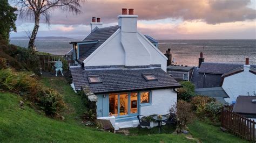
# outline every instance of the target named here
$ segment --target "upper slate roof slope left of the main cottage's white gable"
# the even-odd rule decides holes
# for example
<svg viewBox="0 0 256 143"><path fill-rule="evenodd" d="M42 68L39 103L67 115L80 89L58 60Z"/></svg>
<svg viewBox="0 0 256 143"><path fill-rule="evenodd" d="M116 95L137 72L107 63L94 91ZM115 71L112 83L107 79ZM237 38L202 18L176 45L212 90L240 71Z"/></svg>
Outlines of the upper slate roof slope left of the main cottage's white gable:
<svg viewBox="0 0 256 143"><path fill-rule="evenodd" d="M79 55L79 62L83 62L89 55L91 55L100 45L102 45L111 35L118 30L119 26L110 26L104 28L96 27L83 41L99 40L99 42L93 45L86 53Z"/></svg>

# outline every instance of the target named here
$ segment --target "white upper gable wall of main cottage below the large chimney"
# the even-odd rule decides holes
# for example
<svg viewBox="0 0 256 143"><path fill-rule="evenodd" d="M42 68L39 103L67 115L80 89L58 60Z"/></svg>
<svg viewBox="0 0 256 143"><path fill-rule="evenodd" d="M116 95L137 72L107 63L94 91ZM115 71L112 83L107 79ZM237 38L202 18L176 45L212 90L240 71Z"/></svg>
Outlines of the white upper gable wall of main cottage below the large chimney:
<svg viewBox="0 0 256 143"><path fill-rule="evenodd" d="M84 60L85 66L161 65L166 71L166 57L138 32L116 31L95 52Z"/></svg>

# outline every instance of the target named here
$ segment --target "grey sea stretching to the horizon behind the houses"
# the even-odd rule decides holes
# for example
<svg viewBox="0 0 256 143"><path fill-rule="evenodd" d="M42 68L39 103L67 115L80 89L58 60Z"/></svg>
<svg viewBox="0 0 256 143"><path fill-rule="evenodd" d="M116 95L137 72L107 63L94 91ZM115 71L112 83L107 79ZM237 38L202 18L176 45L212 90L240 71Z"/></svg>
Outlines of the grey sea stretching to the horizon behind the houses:
<svg viewBox="0 0 256 143"><path fill-rule="evenodd" d="M37 51L54 55L63 55L70 51L69 38L50 38L36 40ZM11 39L11 44L21 47L28 46L27 39ZM245 63L250 59L251 65L256 65L256 40L158 40L158 48L165 53L171 49L172 58L177 65L198 66L200 52L203 52L205 62Z"/></svg>

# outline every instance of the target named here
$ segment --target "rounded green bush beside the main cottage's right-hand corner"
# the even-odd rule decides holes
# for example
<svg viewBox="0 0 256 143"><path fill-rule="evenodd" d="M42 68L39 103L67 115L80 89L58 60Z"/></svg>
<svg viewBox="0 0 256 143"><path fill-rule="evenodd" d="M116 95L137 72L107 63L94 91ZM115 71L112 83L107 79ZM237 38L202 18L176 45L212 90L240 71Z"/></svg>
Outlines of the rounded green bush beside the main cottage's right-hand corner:
<svg viewBox="0 0 256 143"><path fill-rule="evenodd" d="M191 97L194 96L194 84L189 81L183 81L180 84L183 87L178 88L178 99L190 101Z"/></svg>

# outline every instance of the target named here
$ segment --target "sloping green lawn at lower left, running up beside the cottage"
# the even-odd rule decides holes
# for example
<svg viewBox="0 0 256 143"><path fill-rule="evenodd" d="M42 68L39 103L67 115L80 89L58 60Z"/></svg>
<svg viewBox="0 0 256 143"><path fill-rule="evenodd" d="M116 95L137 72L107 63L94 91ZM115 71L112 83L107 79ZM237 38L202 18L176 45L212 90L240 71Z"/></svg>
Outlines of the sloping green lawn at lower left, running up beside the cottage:
<svg viewBox="0 0 256 143"><path fill-rule="evenodd" d="M43 78L42 83L63 94L68 109L65 121L45 117L24 105L19 108L21 97L0 92L0 142L192 142L185 135L150 134L124 136L99 131L80 123L85 110L80 97L62 78ZM193 141L194 142L194 141Z"/></svg>

